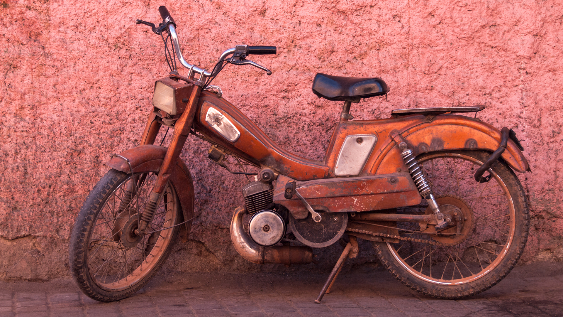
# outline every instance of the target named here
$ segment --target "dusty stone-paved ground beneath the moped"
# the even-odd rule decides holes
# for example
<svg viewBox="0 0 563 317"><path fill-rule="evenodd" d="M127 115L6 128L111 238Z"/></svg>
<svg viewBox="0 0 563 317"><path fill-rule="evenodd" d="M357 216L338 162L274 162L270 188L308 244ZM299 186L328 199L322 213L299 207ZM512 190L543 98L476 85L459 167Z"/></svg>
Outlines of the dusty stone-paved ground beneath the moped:
<svg viewBox="0 0 563 317"><path fill-rule="evenodd" d="M70 279L0 282L0 316L563 316L563 263L517 266L501 283L464 300L414 292L383 270L338 277L314 302L325 274L159 272L125 300L100 303Z"/></svg>

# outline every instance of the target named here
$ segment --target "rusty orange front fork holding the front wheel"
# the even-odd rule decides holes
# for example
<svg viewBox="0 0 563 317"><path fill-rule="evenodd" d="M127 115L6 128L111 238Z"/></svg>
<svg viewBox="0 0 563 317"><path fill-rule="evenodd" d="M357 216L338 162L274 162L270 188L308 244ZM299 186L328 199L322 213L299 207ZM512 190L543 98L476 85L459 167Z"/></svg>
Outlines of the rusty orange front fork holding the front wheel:
<svg viewBox="0 0 563 317"><path fill-rule="evenodd" d="M171 176L173 170L173 164L176 163L182 148L184 148L184 143L186 143L187 136L190 134L191 125L194 122L195 111L198 105L199 95L202 92L202 87L194 85L191 90L190 98L186 104L186 109L184 113L178 118L174 124L174 133L172 134L172 140L168 146L168 151L164 156L162 165L158 173L158 178L154 184L153 191L149 195L149 199L145 204L145 210L141 215L141 219L138 224L138 228L135 230L136 235L143 235L148 224L153 220L154 213L157 211L158 202L160 201L160 196L166 188L168 179ZM145 132L143 134L141 145L154 144L157 139L158 131L160 130L161 124L157 121L157 116L153 112L149 115L149 122L145 127ZM131 199L135 195L135 179L131 183L131 188L127 188L128 192L131 192ZM131 190L131 191L129 191ZM129 199L129 201L131 201Z"/></svg>

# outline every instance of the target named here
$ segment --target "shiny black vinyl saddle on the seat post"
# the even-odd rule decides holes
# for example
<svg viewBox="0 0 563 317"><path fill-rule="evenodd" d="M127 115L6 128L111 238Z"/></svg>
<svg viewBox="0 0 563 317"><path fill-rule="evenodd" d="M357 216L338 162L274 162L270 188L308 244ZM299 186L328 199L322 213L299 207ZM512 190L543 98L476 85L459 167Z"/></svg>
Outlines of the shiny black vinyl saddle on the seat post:
<svg viewBox="0 0 563 317"><path fill-rule="evenodd" d="M379 77L340 77L321 73L316 74L312 89L319 98L353 103L360 102L360 98L381 96L389 91L385 81Z"/></svg>

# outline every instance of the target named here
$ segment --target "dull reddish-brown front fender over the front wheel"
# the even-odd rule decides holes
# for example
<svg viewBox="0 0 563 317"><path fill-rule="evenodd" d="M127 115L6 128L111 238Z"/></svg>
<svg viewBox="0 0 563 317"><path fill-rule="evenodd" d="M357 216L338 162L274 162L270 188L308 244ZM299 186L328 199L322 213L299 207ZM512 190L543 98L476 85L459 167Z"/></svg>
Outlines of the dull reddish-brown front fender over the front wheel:
<svg viewBox="0 0 563 317"><path fill-rule="evenodd" d="M166 151L167 148L165 147L150 144L128 149L127 151L119 153L119 155L129 160L131 167L133 168L133 173L146 173L149 171L158 171L160 169L160 165L162 165ZM111 160L106 162L106 165L110 168L123 171L124 173L131 173L131 168L129 168L127 161L119 156L111 158ZM178 199L180 199L180 206L184 219L191 219L194 217L194 182L191 178L190 170L187 169L186 164L184 164L182 160L178 159L176 161L176 165L171 171L170 181L178 193ZM191 221L186 222L186 230L188 234L190 232L190 228Z"/></svg>

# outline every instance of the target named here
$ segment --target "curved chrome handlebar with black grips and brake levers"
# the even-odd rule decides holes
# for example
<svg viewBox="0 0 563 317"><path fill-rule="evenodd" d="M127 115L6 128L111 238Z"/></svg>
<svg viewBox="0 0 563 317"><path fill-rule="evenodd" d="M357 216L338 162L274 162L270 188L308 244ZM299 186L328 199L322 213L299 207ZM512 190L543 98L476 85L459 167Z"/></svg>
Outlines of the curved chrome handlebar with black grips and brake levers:
<svg viewBox="0 0 563 317"><path fill-rule="evenodd" d="M199 68L195 65L192 65L190 63L187 63L187 61L184 59L184 55L182 55L182 50L180 49L180 41L178 40L178 34L176 33L176 22L174 21L174 19L172 19L172 16L170 15L170 12L168 11L168 9L165 6L160 6L158 8L158 12L160 12L160 16L162 17L162 24L160 24L160 28L158 28L159 30L161 30L160 32L162 33L162 27L164 27L164 29L168 29L170 37L172 39L172 44L174 46L174 51L176 52L176 56L178 57L178 60L180 61L180 64L182 64L182 66L184 66L187 69L190 69L190 73L193 71L195 73L198 73L200 75L199 79L203 80L204 77L211 77L211 76L215 76L217 75L218 72L221 71L221 67L217 67L215 69L215 72L211 73L209 71L206 71L205 69ZM151 25L152 23L146 23L145 21L141 21L141 20L137 20L136 21L137 24L146 24L146 25ZM154 24L153 25L153 32L155 32L155 28L154 28ZM157 32L155 32L157 33ZM160 34L160 33L157 33ZM223 63L225 63L225 60L227 59L227 56L233 54L235 52L235 48L233 47L232 49L228 49L226 51L223 52L223 54L221 54L221 56L219 57L219 61L221 61L221 65ZM275 46L248 46L248 54L249 55L270 55L270 54L276 54L277 53L277 47ZM252 62L252 61L249 61ZM245 64L256 64L254 62L252 63L245 63ZM260 66L260 65L254 65L256 67ZM258 68L262 68L262 67L258 67ZM263 68L265 69L265 68ZM267 71L268 74L271 74L270 71ZM188 76L189 77L189 76Z"/></svg>

